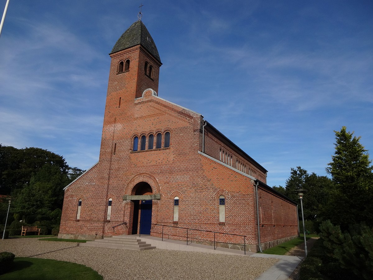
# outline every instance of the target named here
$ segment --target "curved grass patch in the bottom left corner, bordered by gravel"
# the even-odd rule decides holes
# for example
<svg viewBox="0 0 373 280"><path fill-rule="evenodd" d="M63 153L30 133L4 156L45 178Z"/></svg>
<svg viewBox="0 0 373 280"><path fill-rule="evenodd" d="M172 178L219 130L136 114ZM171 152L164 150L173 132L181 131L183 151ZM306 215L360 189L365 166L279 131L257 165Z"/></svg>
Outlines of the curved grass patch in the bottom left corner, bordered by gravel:
<svg viewBox="0 0 373 280"><path fill-rule="evenodd" d="M15 258L13 268L1 280L102 280L90 267L54 259Z"/></svg>

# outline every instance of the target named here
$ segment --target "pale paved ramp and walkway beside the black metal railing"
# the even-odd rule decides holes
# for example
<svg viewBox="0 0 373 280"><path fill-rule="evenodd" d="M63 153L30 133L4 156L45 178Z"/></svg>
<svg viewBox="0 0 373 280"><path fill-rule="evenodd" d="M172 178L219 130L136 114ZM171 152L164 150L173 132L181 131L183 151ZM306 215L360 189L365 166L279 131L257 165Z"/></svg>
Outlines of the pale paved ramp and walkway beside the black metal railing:
<svg viewBox="0 0 373 280"><path fill-rule="evenodd" d="M139 236L137 234L137 236ZM191 243L186 245L185 241L179 240L164 240L155 236L141 235L141 240L151 243L152 246L156 246L158 249L168 249L176 251L193 251L203 253L216 253L216 254L227 254L227 255L245 255L244 251L228 249L228 248L216 248L213 246L201 245ZM258 257L258 258L275 258L280 259L276 264L272 265L267 269L261 276L257 277L256 280L287 280L295 270L297 265L303 259L300 256L283 256L283 255L269 255L262 253L246 252L246 256Z"/></svg>

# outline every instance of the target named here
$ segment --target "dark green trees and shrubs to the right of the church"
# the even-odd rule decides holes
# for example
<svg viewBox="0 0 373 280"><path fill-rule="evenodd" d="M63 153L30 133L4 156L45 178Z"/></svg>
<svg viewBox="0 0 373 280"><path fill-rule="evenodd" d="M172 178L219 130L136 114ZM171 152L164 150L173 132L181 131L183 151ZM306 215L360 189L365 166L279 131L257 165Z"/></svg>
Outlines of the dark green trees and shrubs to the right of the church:
<svg viewBox="0 0 373 280"><path fill-rule="evenodd" d="M273 187L295 201L295 190L307 190L304 218L320 239L301 265L300 280L372 279L373 166L353 134L346 127L335 131L335 152L326 167L331 179L298 166L291 168L285 188Z"/></svg>

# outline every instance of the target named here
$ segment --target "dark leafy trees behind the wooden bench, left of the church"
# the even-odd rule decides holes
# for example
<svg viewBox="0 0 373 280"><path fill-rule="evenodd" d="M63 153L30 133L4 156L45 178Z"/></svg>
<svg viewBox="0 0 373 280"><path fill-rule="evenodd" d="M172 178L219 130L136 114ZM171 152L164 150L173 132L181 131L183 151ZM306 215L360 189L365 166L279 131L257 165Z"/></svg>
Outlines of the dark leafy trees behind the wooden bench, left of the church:
<svg viewBox="0 0 373 280"><path fill-rule="evenodd" d="M0 195L12 197L8 224L12 220L15 227L37 222L47 231L59 225L63 188L83 172L69 167L62 156L48 150L0 144ZM7 200L0 205L0 224L5 224Z"/></svg>

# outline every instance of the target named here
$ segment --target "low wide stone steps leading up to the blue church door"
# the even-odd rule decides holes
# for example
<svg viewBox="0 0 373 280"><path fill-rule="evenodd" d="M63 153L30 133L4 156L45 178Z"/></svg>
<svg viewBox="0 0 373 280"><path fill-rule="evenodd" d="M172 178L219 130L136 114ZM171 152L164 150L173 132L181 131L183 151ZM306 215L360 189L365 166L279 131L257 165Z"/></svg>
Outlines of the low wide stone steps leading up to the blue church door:
<svg viewBox="0 0 373 280"><path fill-rule="evenodd" d="M87 241L86 243L80 243L79 246L132 251L143 251L156 248L155 246L151 246L151 244L147 244L145 241L141 241L137 236L131 235L105 237L104 239L96 239L93 241Z"/></svg>

